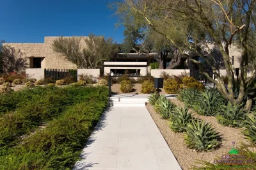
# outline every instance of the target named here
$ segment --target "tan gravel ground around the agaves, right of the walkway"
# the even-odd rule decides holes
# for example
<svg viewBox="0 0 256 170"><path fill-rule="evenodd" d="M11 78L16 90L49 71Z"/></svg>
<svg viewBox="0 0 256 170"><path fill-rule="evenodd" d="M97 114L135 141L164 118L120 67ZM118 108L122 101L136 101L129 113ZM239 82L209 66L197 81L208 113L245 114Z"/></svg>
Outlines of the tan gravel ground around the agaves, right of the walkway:
<svg viewBox="0 0 256 170"><path fill-rule="evenodd" d="M176 105L184 107L184 104L178 99L170 100L172 100L172 102ZM202 152L191 150L185 145L183 134L173 132L169 127L169 121L163 120L161 116L154 111L154 107L151 104L147 104L146 107L154 119L157 127L163 134L163 137L168 143L168 146L172 150L174 156L177 158L177 161L182 169L191 169L191 166L196 165L196 160L206 160L213 163L214 158L221 157L221 155L228 153L228 151L232 148L232 141L236 141L236 146L241 142L249 143L247 139L244 139L244 135L241 134L241 128L223 127L213 116L200 116L190 110L195 118L200 118L211 123L211 125L223 135L221 147L217 150Z"/></svg>

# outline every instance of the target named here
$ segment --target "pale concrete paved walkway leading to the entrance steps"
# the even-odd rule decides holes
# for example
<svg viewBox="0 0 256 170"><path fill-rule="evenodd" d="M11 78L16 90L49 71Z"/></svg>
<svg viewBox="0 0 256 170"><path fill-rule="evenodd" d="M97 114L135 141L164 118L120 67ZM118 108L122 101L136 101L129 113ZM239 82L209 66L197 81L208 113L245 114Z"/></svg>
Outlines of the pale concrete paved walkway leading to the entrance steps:
<svg viewBox="0 0 256 170"><path fill-rule="evenodd" d="M74 169L181 169L146 107L109 107Z"/></svg>

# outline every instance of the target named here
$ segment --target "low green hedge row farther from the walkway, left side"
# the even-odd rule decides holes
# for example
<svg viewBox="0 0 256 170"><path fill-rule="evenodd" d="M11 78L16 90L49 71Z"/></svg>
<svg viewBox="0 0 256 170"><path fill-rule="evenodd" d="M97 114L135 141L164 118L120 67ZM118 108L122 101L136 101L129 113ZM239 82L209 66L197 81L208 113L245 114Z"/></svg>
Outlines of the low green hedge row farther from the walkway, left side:
<svg viewBox="0 0 256 170"><path fill-rule="evenodd" d="M37 89L36 89L37 90ZM43 88L42 91L45 89ZM48 90L48 91L47 91ZM29 134L40 123L57 118L71 105L88 101L99 93L108 94L106 88L51 88L44 95L19 104L15 112L0 119L0 154L10 146L22 141L22 135Z"/></svg>

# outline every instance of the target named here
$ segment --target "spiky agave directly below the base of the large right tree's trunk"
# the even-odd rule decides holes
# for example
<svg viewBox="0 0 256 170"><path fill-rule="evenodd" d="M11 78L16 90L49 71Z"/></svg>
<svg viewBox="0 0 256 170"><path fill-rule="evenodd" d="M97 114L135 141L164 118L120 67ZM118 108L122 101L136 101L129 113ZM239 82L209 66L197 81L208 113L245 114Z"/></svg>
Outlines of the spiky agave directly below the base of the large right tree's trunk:
<svg viewBox="0 0 256 170"><path fill-rule="evenodd" d="M245 118L245 111L243 105L234 104L228 102L227 105L221 105L217 115L217 120L221 125L230 127L239 127L241 121Z"/></svg>

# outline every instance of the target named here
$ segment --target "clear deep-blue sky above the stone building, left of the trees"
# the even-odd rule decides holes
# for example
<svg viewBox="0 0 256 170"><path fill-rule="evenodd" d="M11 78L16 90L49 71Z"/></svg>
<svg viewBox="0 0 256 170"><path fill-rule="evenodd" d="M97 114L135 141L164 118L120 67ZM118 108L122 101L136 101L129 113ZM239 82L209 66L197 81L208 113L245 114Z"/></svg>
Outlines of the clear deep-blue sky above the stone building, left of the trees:
<svg viewBox="0 0 256 170"><path fill-rule="evenodd" d="M44 36L112 37L122 43L109 0L0 0L0 40L44 42Z"/></svg>

